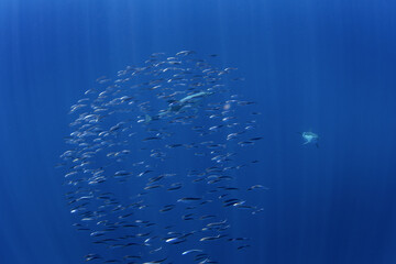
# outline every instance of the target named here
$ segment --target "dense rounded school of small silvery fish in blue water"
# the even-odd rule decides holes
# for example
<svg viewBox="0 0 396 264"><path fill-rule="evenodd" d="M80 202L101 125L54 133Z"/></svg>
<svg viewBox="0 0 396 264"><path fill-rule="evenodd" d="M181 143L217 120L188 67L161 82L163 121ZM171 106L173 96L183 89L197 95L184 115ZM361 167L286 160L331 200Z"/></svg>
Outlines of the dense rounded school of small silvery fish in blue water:
<svg viewBox="0 0 396 264"><path fill-rule="evenodd" d="M263 210L246 197L267 188L244 180L258 161L242 151L262 140L261 113L234 94L243 89L237 68L218 59L152 54L98 78L72 106L59 167L74 226L97 249L86 262L219 263L217 246L253 246L235 235L243 229L232 230L232 216Z"/></svg>

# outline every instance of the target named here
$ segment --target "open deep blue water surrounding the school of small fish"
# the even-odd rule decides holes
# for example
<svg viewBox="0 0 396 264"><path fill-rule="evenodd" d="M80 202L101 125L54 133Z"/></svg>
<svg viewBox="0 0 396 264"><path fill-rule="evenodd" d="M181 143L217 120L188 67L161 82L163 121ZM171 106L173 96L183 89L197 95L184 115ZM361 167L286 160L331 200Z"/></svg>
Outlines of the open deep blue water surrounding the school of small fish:
<svg viewBox="0 0 396 264"><path fill-rule="evenodd" d="M0 263L84 263L54 168L69 107L99 76L182 50L238 67L263 113L243 177L270 190L228 263L396 263L395 15L389 0L0 1ZM301 145L309 130L319 148Z"/></svg>

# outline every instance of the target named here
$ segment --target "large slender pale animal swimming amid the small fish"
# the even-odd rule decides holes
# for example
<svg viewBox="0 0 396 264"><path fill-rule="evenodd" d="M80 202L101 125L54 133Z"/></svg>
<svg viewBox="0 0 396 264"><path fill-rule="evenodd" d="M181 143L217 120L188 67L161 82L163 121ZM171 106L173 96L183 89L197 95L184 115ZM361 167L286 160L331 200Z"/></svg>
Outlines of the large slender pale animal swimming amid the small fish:
<svg viewBox="0 0 396 264"><path fill-rule="evenodd" d="M212 95L213 92L210 91L199 91L189 96L182 98L180 100L172 100L169 101L167 110L161 110L158 114L150 117L148 114L145 116L145 121L150 122L152 120L158 120L165 118L173 113L178 113L184 108L191 107L193 105L199 102L202 98Z"/></svg>

